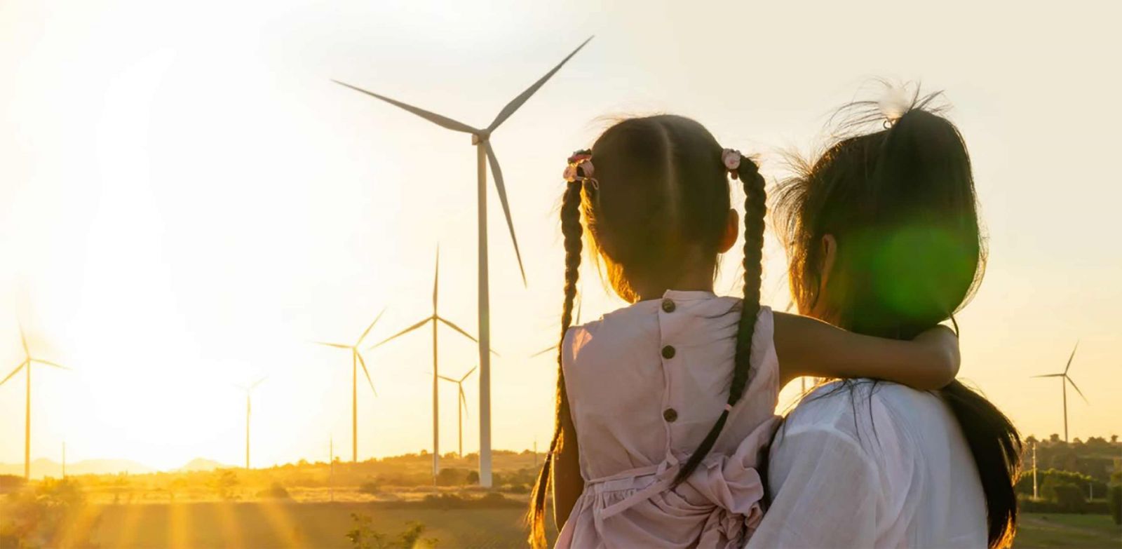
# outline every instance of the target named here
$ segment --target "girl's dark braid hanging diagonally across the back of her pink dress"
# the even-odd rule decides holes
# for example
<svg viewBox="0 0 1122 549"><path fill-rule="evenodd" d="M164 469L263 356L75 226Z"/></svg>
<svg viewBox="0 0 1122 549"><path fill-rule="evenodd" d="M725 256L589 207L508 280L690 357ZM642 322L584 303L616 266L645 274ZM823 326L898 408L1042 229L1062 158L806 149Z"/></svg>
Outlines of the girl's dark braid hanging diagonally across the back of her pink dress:
<svg viewBox="0 0 1122 549"><path fill-rule="evenodd" d="M744 182L744 303L736 329L736 358L733 366L733 382L728 390L728 405L706 434L705 440L690 455L686 465L678 470L674 486L686 481L717 443L717 437L728 421L729 410L744 395L744 387L748 384L748 370L752 368L752 335L756 330L756 315L760 313L760 281L763 276L761 263L767 195L760 168L747 157L741 161L735 175Z"/></svg>

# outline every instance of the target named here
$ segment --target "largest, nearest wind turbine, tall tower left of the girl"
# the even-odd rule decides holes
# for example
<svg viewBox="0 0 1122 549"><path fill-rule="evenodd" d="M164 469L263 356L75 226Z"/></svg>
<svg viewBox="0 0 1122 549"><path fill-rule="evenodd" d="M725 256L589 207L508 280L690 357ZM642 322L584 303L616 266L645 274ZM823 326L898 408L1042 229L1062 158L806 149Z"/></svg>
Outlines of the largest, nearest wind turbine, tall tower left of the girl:
<svg viewBox="0 0 1122 549"><path fill-rule="evenodd" d="M451 118L430 112L424 109L403 103L395 99L379 95L377 93L353 86L351 84L332 80L332 82L350 88L355 91L366 93L373 98L385 101L389 104L407 110L430 122L453 131L462 131L471 135L471 144L476 146L476 174L478 204L477 226L479 234L479 484L481 486L491 485L491 452L490 452L490 302L489 283L487 274L487 164L490 164L495 176L495 190L498 192L499 203L503 205L503 214L506 217L506 227L511 232L511 241L514 244L514 256L518 259L518 272L522 274L522 283L526 283L526 271L522 267L522 254L518 251L518 239L514 236L514 222L511 221L511 207L506 201L506 185L503 183L503 171L499 168L498 158L490 145L491 132L499 125L506 121L514 111L518 110L550 77L553 76L580 48L588 44L589 37L577 49L573 49L565 58L561 60L550 72L531 84L525 91L514 98L503 110L499 111L495 120L486 128L473 128Z"/></svg>

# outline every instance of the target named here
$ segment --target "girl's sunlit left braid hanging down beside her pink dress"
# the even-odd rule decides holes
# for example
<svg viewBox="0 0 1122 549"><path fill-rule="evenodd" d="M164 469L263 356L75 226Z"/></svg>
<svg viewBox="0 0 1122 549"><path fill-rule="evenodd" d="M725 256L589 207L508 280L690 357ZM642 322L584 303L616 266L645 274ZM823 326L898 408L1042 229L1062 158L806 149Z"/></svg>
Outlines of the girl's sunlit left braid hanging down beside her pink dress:
<svg viewBox="0 0 1122 549"><path fill-rule="evenodd" d="M530 545L534 549L545 547L545 498L550 487L553 468L553 457L564 446L561 419L569 415L569 396L564 387L564 369L561 366L564 356L564 336L572 324L573 302L577 299L577 280L580 276L580 253L582 249L580 225L580 192L582 180L571 181L565 186L561 199L561 234L564 236L564 305L561 309L561 344L558 346L558 404L553 421L553 440L549 454L542 461L542 470L537 474L537 483L530 496L530 512L526 522L530 523Z"/></svg>

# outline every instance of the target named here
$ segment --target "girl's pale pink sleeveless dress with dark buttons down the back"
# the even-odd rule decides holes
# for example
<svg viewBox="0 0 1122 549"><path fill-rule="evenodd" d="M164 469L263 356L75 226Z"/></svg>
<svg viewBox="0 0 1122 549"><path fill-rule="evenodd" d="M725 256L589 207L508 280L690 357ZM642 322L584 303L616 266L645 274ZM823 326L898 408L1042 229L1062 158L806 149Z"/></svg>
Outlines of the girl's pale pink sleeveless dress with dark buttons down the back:
<svg viewBox="0 0 1122 549"><path fill-rule="evenodd" d="M712 451L670 485L724 411L741 300L668 291L574 327L562 355L585 491L559 548L739 548L763 515L779 418L772 312L762 308L752 369Z"/></svg>

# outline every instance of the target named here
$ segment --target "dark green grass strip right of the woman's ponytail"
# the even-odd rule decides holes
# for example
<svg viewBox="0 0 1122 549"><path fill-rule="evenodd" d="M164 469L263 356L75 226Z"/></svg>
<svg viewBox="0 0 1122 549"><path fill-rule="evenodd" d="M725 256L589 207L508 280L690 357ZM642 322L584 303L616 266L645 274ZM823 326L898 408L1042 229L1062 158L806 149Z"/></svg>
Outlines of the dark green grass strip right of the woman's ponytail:
<svg viewBox="0 0 1122 549"><path fill-rule="evenodd" d="M1105 514L1021 514L1014 549L1122 548L1122 528Z"/></svg>

